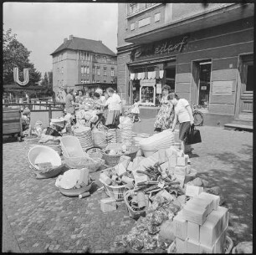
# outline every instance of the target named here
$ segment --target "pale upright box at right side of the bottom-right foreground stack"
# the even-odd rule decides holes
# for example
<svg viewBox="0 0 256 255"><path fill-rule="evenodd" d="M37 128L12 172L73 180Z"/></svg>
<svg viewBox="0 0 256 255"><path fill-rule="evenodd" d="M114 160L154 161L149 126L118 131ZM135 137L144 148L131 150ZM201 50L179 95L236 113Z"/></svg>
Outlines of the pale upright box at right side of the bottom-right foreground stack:
<svg viewBox="0 0 256 255"><path fill-rule="evenodd" d="M202 245L212 247L222 232L222 219L212 211L207 220L200 227L200 242Z"/></svg>

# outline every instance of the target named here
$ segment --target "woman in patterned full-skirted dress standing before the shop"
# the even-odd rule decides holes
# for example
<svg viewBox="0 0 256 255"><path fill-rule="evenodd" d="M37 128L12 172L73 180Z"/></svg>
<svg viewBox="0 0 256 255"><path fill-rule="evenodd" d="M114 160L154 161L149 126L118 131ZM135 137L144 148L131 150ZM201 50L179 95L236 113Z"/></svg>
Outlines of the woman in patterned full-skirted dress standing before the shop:
<svg viewBox="0 0 256 255"><path fill-rule="evenodd" d="M162 98L160 100L161 108L156 115L154 123L155 132L161 132L162 130L170 129L173 119L173 105L167 99L167 95L170 93L171 87L164 85L162 87Z"/></svg>

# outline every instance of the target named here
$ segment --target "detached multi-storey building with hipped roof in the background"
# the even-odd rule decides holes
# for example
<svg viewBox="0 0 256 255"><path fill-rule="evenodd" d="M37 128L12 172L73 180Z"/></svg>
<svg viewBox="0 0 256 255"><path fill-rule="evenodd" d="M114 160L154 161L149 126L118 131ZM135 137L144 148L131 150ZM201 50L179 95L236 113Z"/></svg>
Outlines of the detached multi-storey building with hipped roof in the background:
<svg viewBox="0 0 256 255"><path fill-rule="evenodd" d="M53 54L53 89L55 95L64 88L83 89L116 84L116 54L101 41L64 38ZM62 99L63 100L63 96Z"/></svg>

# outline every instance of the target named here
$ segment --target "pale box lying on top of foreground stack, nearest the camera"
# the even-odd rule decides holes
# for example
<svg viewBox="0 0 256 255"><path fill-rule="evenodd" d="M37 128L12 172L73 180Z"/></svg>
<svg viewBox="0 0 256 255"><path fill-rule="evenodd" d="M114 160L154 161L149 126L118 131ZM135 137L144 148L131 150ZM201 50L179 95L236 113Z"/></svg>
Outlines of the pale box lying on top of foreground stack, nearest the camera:
<svg viewBox="0 0 256 255"><path fill-rule="evenodd" d="M194 205L187 205L183 207L182 209L182 216L188 221L188 222L194 222L198 225L202 226L202 224L207 219L207 209L202 207L197 207ZM201 232L200 232L201 236Z"/></svg>

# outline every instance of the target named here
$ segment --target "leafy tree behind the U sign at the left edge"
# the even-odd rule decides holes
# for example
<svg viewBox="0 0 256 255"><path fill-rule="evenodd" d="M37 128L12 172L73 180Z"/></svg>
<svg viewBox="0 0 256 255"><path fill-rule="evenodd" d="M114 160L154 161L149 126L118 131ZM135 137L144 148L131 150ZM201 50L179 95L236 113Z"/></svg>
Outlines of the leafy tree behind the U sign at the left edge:
<svg viewBox="0 0 256 255"><path fill-rule="evenodd" d="M12 29L9 28L6 32L3 31L3 84L13 84L13 68L18 67L19 79L23 80L23 69L29 69L29 82L35 84L41 79L41 74L38 72L32 63L29 61L28 51L23 43L19 43L16 34L12 34Z"/></svg>

